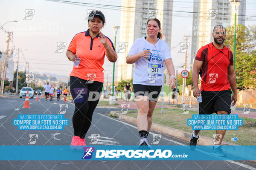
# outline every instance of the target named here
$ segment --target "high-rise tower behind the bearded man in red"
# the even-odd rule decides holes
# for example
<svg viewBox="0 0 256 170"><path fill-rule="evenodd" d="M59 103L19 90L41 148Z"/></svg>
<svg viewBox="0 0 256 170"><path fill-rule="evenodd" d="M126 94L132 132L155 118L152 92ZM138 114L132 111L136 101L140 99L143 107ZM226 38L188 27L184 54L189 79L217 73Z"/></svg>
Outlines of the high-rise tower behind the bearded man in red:
<svg viewBox="0 0 256 170"><path fill-rule="evenodd" d="M236 23L245 25L246 0L237 11ZM191 68L197 51L213 41L212 29L216 25L234 25L234 9L230 0L194 0L191 45Z"/></svg>

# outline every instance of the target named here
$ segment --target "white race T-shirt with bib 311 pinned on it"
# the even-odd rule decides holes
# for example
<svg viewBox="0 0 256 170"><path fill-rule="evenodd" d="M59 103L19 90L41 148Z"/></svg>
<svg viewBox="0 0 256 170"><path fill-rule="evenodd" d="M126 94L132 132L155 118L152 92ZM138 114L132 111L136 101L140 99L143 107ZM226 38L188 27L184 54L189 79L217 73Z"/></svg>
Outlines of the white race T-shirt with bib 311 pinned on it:
<svg viewBox="0 0 256 170"><path fill-rule="evenodd" d="M145 40L145 37L141 37L134 41L127 55L135 55L145 49L151 51L150 57L141 57L135 62L133 84L163 85L164 60L172 58L168 44L158 39L153 45Z"/></svg>

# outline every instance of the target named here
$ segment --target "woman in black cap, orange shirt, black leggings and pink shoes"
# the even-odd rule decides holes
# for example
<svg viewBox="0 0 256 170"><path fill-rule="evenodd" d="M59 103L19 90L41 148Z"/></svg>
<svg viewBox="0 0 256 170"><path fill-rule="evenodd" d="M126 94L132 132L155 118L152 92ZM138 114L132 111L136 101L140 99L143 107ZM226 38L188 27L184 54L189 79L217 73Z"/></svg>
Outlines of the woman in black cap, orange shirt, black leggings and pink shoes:
<svg viewBox="0 0 256 170"><path fill-rule="evenodd" d="M74 62L70 73L70 92L76 106L72 119L74 135L71 149L82 149L81 146L86 145L84 137L103 87L102 65L105 55L111 62L117 59L113 43L100 31L104 24L102 12L91 11L88 17L89 29L76 34L67 50L67 58ZM89 96L93 99L89 99Z"/></svg>

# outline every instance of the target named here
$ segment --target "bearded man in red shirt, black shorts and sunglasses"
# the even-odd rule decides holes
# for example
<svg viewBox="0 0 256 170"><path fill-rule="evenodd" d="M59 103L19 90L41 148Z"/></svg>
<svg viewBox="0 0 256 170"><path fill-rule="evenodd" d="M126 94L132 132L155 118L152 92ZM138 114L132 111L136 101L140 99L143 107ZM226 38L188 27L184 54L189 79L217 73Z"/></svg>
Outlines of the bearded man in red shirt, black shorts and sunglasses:
<svg viewBox="0 0 256 170"><path fill-rule="evenodd" d="M195 57L192 71L192 82L194 84L193 95L202 96L199 103L199 114L230 114L232 106L236 104L236 73L233 65L233 53L224 44L226 29L224 26L213 28L213 42L201 47ZM198 75L201 75L201 88L198 88ZM233 96L230 87L233 90ZM189 141L189 146L195 150L199 131L194 130ZM219 143L213 147L212 152L218 156L225 156L221 150L221 142L226 130L216 130Z"/></svg>

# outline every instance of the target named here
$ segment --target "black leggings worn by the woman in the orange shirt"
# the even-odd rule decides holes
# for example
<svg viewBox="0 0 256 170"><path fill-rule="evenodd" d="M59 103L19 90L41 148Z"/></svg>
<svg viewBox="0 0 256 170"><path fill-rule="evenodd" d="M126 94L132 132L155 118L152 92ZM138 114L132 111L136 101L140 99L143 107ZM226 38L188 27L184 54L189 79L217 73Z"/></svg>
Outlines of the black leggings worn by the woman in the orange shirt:
<svg viewBox="0 0 256 170"><path fill-rule="evenodd" d="M72 119L74 136L85 137L91 125L93 111L99 102L102 87L102 82L87 83L87 80L70 76L70 92L75 103Z"/></svg>

